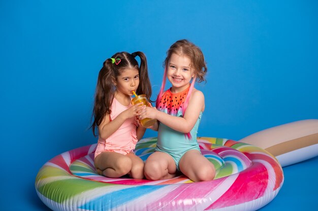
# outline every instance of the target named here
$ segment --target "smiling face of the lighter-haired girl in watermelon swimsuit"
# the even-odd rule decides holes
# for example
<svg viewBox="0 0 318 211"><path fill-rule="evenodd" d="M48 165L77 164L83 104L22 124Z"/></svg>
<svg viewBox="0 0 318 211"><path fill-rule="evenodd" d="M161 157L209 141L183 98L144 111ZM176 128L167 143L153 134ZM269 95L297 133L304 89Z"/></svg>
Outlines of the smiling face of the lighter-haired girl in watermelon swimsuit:
<svg viewBox="0 0 318 211"><path fill-rule="evenodd" d="M173 53L167 67L167 77L172 84L172 92L179 93L188 88L190 80L195 76L190 67L191 60L187 56Z"/></svg>

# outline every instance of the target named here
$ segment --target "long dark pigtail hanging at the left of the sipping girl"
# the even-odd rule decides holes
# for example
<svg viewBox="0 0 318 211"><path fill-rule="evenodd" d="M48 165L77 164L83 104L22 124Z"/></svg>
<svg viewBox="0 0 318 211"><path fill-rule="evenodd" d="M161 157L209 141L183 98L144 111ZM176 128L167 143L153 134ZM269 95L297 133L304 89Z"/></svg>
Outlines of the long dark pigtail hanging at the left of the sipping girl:
<svg viewBox="0 0 318 211"><path fill-rule="evenodd" d="M114 70L112 61L107 59L103 63L103 67L99 72L96 92L94 95L94 107L92 111L92 118L94 118L91 128L93 135L97 136L97 128L101 124L107 113L110 113L112 99L114 98Z"/></svg>

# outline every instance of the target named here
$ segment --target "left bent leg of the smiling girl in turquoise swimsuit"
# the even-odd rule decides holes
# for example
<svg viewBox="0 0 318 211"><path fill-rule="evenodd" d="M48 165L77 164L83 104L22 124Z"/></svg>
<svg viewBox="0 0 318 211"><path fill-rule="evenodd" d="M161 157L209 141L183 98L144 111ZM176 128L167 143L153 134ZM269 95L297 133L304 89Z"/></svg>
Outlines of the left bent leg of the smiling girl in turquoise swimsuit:
<svg viewBox="0 0 318 211"><path fill-rule="evenodd" d="M176 176L176 163L165 152L154 152L146 160L145 176L148 180L171 179Z"/></svg>

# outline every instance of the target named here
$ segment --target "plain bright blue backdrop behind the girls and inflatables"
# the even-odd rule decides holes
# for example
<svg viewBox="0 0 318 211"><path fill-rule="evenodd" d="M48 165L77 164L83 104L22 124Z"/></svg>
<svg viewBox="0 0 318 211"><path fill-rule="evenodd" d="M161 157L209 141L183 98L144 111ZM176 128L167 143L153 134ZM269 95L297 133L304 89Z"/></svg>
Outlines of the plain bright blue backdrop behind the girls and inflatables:
<svg viewBox="0 0 318 211"><path fill-rule="evenodd" d="M0 209L49 210L37 172L97 142L88 130L93 94L115 52L146 54L155 99L170 45L187 38L201 47L199 136L239 140L318 118L317 10L317 1L1 1ZM281 191L261 210L316 209L317 161L284 167Z"/></svg>

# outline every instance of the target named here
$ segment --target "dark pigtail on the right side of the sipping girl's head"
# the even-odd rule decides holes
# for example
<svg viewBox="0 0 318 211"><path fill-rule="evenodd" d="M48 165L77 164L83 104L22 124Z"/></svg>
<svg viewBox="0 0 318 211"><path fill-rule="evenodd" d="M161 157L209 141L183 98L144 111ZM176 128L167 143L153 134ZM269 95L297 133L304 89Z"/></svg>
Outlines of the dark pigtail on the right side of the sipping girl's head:
<svg viewBox="0 0 318 211"><path fill-rule="evenodd" d="M148 76L148 66L147 59L144 53L137 51L132 53L132 56L135 58L139 56L140 58L140 67L139 67L139 86L137 88L138 94L145 94L147 99L150 101L151 97L151 85Z"/></svg>

